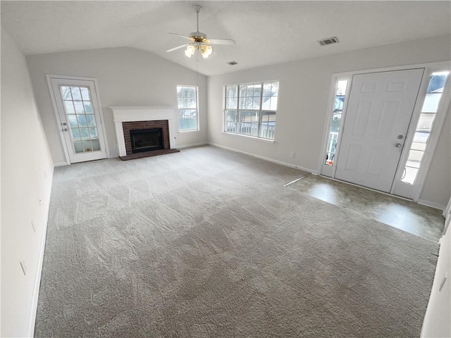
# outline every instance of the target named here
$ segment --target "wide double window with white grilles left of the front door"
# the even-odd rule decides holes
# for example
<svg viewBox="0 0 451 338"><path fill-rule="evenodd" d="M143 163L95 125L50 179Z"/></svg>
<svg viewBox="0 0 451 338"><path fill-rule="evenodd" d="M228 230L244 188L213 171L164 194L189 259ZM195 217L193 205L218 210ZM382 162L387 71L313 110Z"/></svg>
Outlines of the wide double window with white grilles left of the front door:
<svg viewBox="0 0 451 338"><path fill-rule="evenodd" d="M279 82L226 86L224 132L274 139Z"/></svg>

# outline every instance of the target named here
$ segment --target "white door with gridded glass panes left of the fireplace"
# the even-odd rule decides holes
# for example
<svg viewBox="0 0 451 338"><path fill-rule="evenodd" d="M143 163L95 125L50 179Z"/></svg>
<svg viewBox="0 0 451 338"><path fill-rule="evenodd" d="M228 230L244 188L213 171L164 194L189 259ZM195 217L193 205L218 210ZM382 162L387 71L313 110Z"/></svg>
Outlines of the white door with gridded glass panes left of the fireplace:
<svg viewBox="0 0 451 338"><path fill-rule="evenodd" d="M70 163L107 158L94 81L49 79Z"/></svg>

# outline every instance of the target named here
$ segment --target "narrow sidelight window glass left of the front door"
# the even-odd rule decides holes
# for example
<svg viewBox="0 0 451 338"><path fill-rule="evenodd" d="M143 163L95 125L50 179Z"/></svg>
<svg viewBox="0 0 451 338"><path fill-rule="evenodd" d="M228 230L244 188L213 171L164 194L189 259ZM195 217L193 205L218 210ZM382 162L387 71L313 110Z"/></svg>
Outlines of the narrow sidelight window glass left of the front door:
<svg viewBox="0 0 451 338"><path fill-rule="evenodd" d="M345 105L347 80L339 80L337 82L335 92L335 104L333 105L332 122L330 123L329 137L327 140L326 149L326 163L333 165L333 158L335 156L335 148L338 141L338 133L340 132L341 113Z"/></svg>

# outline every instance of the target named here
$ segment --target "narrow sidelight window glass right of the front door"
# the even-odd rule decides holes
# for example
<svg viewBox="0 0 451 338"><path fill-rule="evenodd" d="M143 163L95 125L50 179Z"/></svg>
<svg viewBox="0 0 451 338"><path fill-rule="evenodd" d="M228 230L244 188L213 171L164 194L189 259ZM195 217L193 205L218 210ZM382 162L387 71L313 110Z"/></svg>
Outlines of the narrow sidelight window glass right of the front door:
<svg viewBox="0 0 451 338"><path fill-rule="evenodd" d="M448 72L440 72L431 75L401 182L414 184L416 180L448 74Z"/></svg>

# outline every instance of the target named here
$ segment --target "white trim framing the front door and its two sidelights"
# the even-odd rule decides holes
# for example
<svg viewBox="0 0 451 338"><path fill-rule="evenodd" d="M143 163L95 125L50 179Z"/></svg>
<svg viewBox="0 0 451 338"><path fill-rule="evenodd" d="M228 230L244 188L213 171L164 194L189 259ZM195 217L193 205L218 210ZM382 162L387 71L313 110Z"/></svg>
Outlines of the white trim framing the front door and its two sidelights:
<svg viewBox="0 0 451 338"><path fill-rule="evenodd" d="M414 139L416 124L419 120L419 113L421 111L421 108L424 103L424 97L427 91L428 83L431 78L431 74L438 72L440 70L450 70L450 61L442 61L442 62L435 62L435 63L419 63L414 65L402 65L402 66L394 66L394 67L387 67L387 68L373 68L373 69L367 69L367 70L356 70L352 72L346 72L346 73L334 73L332 77L332 82L330 84L330 94L329 94L329 103L328 103L328 113L326 114L326 121L324 123L324 130L323 130L323 144L321 146L321 154L319 156L318 161L318 173L321 173L321 175L326 174L326 170L324 167L328 166L324 164L324 154L326 154L326 137L328 137L328 132L330 130L330 123L332 120L332 114L333 114L333 104L335 99L335 86L338 80L348 80L348 86L346 89L346 97L349 98L350 90L352 87L352 77L354 75L358 74L366 74L366 73L378 73L378 72L390 72L395 70L409 70L409 69L415 69L415 68L424 68L424 75L423 79L421 80L420 89L419 89L419 99L416 100L414 112L412 113L412 120L409 124L409 131L407 133L405 142L404 142L404 148L402 149L402 154L400 157L400 164L398 165L397 171L395 173L395 179L394 184L392 186L392 189L390 190L390 194L394 194L396 190L397 184L405 184L404 182L401 182L402 172L404 170L404 165L407 161L407 156L410 150L410 146L412 145L412 141ZM421 195L421 191L424 186L424 181L426 180L426 175L428 173L429 167L431 165L431 161L433 158L433 154L435 154L435 147L438 143L438 138L440 137L440 132L443 126L443 121L445 120L447 110L450 106L451 101L451 73L448 75L449 78L447 80L447 83L445 85L445 88L443 89L443 96L440 101L440 106L437 111L437 115L435 116L435 120L433 122L433 126L431 129L431 134L428 139L428 150L424 153L424 157L421 160L421 167L420 170L416 176L414 186L414 192L412 194L412 201L417 202L419 201L419 196ZM420 96L421 95L421 96ZM340 156L340 146L341 146L341 139L342 139L342 130L343 125L345 123L346 118L346 111L347 111L347 101L345 102L345 106L343 106L342 111L342 120L340 124L340 134L338 135L338 146L335 150L335 157L338 158ZM408 146L407 146L408 145ZM336 165L333 165L332 175L330 177L335 178L335 170ZM328 175L327 175L328 176Z"/></svg>

